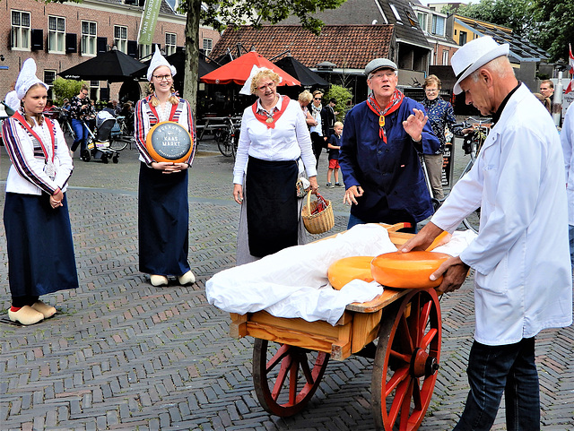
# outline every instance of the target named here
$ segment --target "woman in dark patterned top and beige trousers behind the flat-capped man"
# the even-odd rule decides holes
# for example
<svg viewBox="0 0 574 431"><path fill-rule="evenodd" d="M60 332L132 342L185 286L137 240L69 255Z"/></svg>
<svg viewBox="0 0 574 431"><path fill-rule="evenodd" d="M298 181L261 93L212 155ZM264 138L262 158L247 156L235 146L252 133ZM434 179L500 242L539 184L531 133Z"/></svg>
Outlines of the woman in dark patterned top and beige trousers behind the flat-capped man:
<svg viewBox="0 0 574 431"><path fill-rule="evenodd" d="M452 125L457 123L457 117L452 105L439 98L440 80L436 75L429 75L422 84L425 98L422 100L422 106L427 111L429 123L431 123L432 132L437 135L440 142L439 150L434 154L423 154L424 164L427 167L429 181L431 182L432 195L439 201L444 200L445 194L442 191L442 164L443 153L447 140L445 138L447 126L452 129ZM458 134L460 128L451 130L453 134Z"/></svg>

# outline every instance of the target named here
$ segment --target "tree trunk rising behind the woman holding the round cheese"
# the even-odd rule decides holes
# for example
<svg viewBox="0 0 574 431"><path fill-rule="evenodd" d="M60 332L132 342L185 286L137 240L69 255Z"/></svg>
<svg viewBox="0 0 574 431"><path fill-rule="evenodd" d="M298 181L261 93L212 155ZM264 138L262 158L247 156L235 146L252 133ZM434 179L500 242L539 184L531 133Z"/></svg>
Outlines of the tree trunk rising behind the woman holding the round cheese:
<svg viewBox="0 0 574 431"><path fill-rule="evenodd" d="M197 105L197 61L199 59L199 13L201 0L186 0L186 70L183 97L191 104L194 116Z"/></svg>

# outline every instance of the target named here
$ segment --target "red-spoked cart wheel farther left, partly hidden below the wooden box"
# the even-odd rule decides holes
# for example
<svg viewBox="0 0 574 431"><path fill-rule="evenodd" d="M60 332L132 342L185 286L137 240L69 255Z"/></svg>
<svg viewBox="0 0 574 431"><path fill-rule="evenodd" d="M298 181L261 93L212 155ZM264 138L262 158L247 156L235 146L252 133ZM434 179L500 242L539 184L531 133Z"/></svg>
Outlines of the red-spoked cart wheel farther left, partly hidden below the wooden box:
<svg viewBox="0 0 574 431"><path fill-rule="evenodd" d="M261 406L287 417L305 408L325 373L330 355L256 339L253 384Z"/></svg>

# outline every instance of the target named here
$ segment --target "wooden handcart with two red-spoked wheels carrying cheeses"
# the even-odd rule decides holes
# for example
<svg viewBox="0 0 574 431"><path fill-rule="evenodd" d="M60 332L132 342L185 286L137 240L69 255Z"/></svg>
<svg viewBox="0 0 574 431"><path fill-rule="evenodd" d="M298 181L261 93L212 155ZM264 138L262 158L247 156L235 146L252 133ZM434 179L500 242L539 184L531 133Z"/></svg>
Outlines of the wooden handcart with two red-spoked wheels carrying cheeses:
<svg viewBox="0 0 574 431"><path fill-rule="evenodd" d="M400 246L412 234L389 236ZM385 288L370 302L346 306L335 326L265 311L230 316L230 336L256 339L253 381L266 411L280 417L300 412L317 391L330 358L369 356L364 352L372 346L375 427L406 431L421 425L439 369L441 320L435 289Z"/></svg>

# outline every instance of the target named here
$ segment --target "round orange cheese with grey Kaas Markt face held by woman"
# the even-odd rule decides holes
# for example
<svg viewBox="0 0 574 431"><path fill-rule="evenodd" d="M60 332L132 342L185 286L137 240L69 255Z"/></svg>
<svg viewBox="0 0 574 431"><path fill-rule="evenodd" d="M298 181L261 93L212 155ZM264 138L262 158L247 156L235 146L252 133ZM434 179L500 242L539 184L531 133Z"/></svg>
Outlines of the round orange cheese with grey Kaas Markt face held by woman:
<svg viewBox="0 0 574 431"><path fill-rule="evenodd" d="M173 121L154 125L147 134L145 146L155 161L180 163L187 160L194 142L187 129Z"/></svg>

